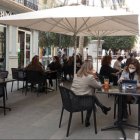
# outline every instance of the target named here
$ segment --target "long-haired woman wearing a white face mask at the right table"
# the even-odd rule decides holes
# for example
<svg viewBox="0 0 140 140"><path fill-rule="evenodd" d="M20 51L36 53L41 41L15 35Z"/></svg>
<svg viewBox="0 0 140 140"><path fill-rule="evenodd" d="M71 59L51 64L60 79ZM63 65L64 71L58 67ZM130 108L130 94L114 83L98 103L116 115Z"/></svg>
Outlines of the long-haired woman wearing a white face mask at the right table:
<svg viewBox="0 0 140 140"><path fill-rule="evenodd" d="M128 66L126 66L121 74L118 83L121 83L122 80L136 80L137 87L140 87L140 64L138 61L131 61ZM126 121L128 118L128 111L127 111L127 103L136 103L137 97L136 96L125 96L123 98L123 120Z"/></svg>

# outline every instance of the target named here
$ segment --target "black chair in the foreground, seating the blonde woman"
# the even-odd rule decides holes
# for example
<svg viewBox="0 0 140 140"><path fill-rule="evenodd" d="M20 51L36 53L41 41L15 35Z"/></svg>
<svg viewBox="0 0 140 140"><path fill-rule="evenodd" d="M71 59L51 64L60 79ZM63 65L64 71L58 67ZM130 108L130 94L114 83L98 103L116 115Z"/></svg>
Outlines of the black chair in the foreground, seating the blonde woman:
<svg viewBox="0 0 140 140"><path fill-rule="evenodd" d="M61 112L61 117L59 122L59 128L61 127L61 121L62 121L64 109L70 113L66 137L69 136L72 114L74 112L81 112L82 123L83 123L83 111L86 111L88 109L93 109L94 127L95 127L95 133L97 134L94 98L90 95L77 96L73 93L73 91L63 86L59 86L59 90L62 98L62 112Z"/></svg>

